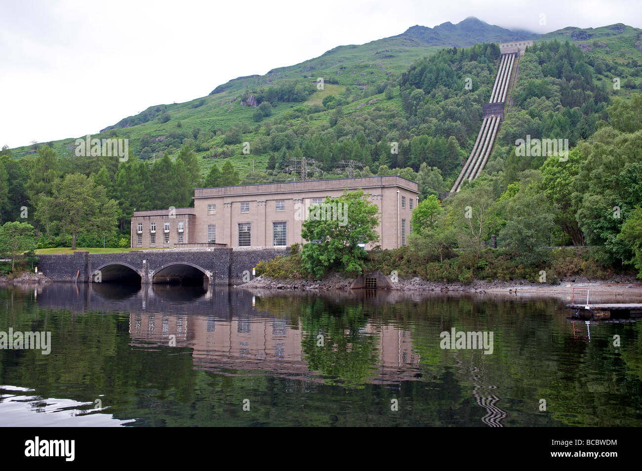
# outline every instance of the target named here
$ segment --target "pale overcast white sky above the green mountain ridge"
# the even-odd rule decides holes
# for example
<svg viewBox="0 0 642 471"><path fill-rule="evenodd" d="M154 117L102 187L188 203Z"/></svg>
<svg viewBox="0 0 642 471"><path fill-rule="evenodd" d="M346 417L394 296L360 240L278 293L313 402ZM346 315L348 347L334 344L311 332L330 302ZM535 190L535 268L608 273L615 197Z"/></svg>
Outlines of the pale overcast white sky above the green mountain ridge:
<svg viewBox="0 0 642 471"><path fill-rule="evenodd" d="M242 75L475 16L537 33L623 22L640 0L0 0L0 146L93 134ZM546 24L541 25L541 15Z"/></svg>

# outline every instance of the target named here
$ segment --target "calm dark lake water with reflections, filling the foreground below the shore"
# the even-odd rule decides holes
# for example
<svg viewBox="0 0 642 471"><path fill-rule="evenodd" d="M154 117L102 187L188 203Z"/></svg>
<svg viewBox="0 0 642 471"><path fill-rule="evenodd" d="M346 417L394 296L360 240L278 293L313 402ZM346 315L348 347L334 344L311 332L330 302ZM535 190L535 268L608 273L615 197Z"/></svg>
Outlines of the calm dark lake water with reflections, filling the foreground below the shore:
<svg viewBox="0 0 642 471"><path fill-rule="evenodd" d="M642 322L568 315L559 299L0 287L0 332L51 332L49 355L0 350L0 425L642 425ZM492 354L442 350L451 328L493 332Z"/></svg>

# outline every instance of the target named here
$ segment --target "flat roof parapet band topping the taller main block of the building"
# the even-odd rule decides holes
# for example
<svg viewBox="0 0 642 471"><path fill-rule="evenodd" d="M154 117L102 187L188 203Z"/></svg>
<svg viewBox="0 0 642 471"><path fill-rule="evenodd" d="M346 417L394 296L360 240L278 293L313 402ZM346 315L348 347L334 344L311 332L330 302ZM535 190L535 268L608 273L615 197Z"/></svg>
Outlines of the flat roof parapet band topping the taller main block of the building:
<svg viewBox="0 0 642 471"><path fill-rule="evenodd" d="M419 193L417 182L399 177L399 175L375 175L373 177L335 178L327 180L304 180L298 182L257 183L236 186L218 186L213 188L196 188L194 198L209 198L237 195L260 195L268 193L298 193L300 191L323 190L356 190L357 188L379 188L381 186L399 186L413 193Z"/></svg>

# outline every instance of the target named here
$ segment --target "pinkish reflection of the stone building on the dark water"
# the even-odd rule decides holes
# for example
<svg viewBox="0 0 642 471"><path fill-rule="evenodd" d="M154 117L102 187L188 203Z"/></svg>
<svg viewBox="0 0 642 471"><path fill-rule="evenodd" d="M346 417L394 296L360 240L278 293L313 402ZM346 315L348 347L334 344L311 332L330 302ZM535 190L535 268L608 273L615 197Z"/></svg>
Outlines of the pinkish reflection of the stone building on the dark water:
<svg viewBox="0 0 642 471"><path fill-rule="evenodd" d="M379 363L370 382L390 383L419 378L419 355L412 350L409 332L394 326L367 324L364 335L376 337ZM268 371L275 375L310 379L302 341L305 333L291 328L289 320L270 316L234 319L202 315L130 314L132 343L152 342L193 348L196 365L232 375ZM230 371L231 370L231 371ZM238 371L235 373L234 371Z"/></svg>

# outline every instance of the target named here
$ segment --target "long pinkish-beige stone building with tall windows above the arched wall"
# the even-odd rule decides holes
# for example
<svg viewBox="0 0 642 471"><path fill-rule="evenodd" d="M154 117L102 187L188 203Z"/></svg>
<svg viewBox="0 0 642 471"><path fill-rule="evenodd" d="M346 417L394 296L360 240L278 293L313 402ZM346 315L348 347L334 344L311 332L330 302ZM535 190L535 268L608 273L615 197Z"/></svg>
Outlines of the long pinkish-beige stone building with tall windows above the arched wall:
<svg viewBox="0 0 642 471"><path fill-rule="evenodd" d="M416 182L391 175L197 188L194 208L135 211L132 247L224 244L234 248L272 248L304 244L308 241L302 239L301 228L308 208L322 204L322 218L349 219L350 208L337 207L332 200L344 190L358 189L379 208L379 242L371 245L381 245L383 249L405 245L419 191Z"/></svg>

